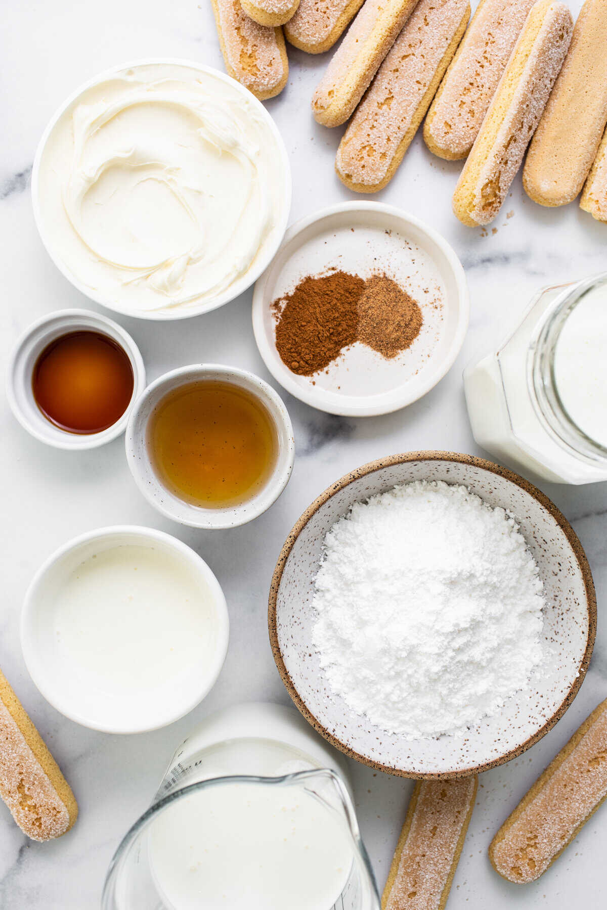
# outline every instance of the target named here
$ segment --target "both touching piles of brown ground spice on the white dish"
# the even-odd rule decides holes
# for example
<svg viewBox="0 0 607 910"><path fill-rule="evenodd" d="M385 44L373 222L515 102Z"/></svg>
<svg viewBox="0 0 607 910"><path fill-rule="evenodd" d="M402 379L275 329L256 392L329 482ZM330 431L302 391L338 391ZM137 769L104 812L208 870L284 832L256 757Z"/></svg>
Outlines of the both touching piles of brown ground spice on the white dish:
<svg viewBox="0 0 607 910"><path fill-rule="evenodd" d="M276 347L299 376L326 369L356 341L391 359L420 334L418 303L387 275L335 271L303 278L288 296L271 305Z"/></svg>

